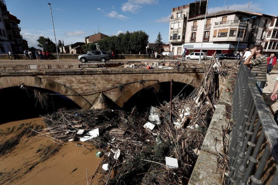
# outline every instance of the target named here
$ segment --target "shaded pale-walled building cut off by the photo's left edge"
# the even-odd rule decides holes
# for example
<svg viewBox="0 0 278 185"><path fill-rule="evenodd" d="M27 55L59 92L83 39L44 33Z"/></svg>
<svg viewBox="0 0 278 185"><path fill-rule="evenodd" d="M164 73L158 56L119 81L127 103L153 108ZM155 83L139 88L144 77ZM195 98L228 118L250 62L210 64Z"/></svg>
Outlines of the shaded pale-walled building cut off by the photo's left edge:
<svg viewBox="0 0 278 185"><path fill-rule="evenodd" d="M7 54L11 49L8 34L5 27L5 19L8 20L8 11L5 1L0 1L0 54Z"/></svg>

